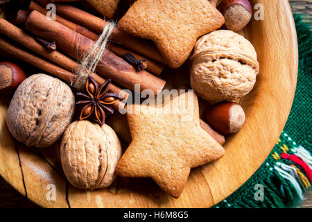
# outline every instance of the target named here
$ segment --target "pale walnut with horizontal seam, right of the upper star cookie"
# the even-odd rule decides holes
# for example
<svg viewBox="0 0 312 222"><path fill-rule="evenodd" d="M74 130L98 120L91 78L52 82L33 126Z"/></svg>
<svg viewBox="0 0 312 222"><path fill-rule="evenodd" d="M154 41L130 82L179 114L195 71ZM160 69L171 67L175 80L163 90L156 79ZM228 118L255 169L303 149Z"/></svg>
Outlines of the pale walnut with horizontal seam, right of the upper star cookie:
<svg viewBox="0 0 312 222"><path fill-rule="evenodd" d="M259 73L254 46L228 30L200 37L191 62L191 87L208 101L240 99L252 90Z"/></svg>

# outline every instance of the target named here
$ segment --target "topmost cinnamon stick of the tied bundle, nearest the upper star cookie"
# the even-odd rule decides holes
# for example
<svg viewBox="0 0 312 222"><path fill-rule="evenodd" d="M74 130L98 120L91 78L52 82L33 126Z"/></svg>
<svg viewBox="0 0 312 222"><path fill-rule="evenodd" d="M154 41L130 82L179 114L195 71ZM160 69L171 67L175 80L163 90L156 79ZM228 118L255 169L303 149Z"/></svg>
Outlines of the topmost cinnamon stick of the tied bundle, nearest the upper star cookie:
<svg viewBox="0 0 312 222"><path fill-rule="evenodd" d="M46 2L42 0L36 0L42 6L46 6ZM103 19L96 17L84 10L80 10L74 6L56 4L56 10L58 15L65 17L77 24L85 26L95 33L101 34L103 28L106 26L107 22ZM157 47L152 42L143 40L139 37L134 37L121 31L119 28L115 27L112 33L112 40L118 42L132 51L139 53L141 56L151 58L157 62L166 64L166 61L159 53Z"/></svg>

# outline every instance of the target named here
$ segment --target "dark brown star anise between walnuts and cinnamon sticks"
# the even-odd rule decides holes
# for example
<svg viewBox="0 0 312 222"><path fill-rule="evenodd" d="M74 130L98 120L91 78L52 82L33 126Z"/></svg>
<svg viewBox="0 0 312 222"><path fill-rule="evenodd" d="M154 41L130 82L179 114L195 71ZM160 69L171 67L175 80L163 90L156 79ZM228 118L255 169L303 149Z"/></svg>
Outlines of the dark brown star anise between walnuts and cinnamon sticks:
<svg viewBox="0 0 312 222"><path fill-rule="evenodd" d="M121 98L114 92L107 92L110 88L110 82L111 80L107 79L105 83L98 86L98 83L91 76L87 78L85 86L87 94L83 92L77 94L85 99L76 103L84 105L80 113L80 120L87 119L94 114L98 123L103 125L106 117L105 110L111 114L114 112L110 105Z"/></svg>

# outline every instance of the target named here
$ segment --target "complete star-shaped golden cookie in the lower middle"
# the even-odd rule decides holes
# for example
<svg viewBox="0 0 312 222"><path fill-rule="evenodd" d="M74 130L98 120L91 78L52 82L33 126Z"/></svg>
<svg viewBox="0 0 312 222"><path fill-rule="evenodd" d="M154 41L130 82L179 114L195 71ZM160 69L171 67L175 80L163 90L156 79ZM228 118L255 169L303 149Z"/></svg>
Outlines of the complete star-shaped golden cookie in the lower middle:
<svg viewBox="0 0 312 222"><path fill-rule="evenodd" d="M159 106L130 105L132 142L116 167L123 177L149 177L178 198L191 168L218 160L224 149L200 127L198 98L187 92Z"/></svg>

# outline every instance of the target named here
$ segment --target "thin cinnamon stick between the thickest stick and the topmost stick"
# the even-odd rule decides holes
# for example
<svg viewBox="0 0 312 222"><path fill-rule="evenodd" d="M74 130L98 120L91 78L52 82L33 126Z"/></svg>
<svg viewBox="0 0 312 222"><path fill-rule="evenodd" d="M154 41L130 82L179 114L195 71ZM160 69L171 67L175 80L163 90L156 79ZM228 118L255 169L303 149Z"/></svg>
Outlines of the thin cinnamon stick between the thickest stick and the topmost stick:
<svg viewBox="0 0 312 222"><path fill-rule="evenodd" d="M33 10L37 10L38 12L44 15L46 15L46 13L48 12L48 10L40 6L38 3L35 3L35 1L31 1L28 7L28 11L31 12ZM19 17L18 14L17 14L17 17ZM25 19L24 22L26 22L27 17L23 17L23 18ZM21 19L23 18L17 18L17 19L21 21ZM90 40L98 39L98 35L94 33L93 31L89 30L89 28L85 28L83 26L70 22L69 20L64 19L63 17L60 17L59 15L55 16L55 21L60 22L60 24L63 24L64 26L71 28L73 31L76 31L77 33L80 33L81 35L85 35L85 37L88 37ZM163 65L162 63L155 62L153 60L140 56L137 53L133 53L132 51L125 49L123 46L119 44L114 44L113 42L110 42L108 44L108 49L110 49L112 52L114 52L117 56L120 56L120 57L122 57L125 53L131 53L133 56L135 56L135 58L139 60L143 60L143 59L146 60L146 63L148 65L146 70L156 75L160 75L162 73L162 70L165 67L165 65Z"/></svg>

